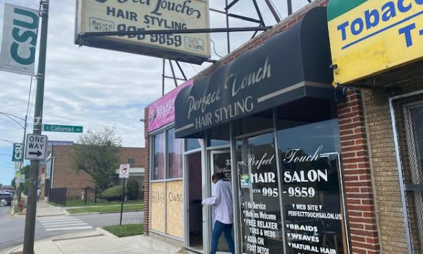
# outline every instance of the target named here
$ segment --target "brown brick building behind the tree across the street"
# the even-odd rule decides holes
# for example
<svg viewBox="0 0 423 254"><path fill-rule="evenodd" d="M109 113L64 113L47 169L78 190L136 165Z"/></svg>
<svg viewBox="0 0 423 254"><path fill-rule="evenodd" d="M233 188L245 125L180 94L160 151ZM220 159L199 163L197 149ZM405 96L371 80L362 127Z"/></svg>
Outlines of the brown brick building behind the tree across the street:
<svg viewBox="0 0 423 254"><path fill-rule="evenodd" d="M72 145L53 145L51 154L47 159L45 193L48 196L51 188L67 188L68 198L81 198L84 189L94 190L95 184L92 177L85 171L75 171L72 168L70 152ZM118 164L130 164L132 174L143 193L144 181L144 148L142 147L118 147L120 160ZM115 171L114 184L119 184L118 169Z"/></svg>

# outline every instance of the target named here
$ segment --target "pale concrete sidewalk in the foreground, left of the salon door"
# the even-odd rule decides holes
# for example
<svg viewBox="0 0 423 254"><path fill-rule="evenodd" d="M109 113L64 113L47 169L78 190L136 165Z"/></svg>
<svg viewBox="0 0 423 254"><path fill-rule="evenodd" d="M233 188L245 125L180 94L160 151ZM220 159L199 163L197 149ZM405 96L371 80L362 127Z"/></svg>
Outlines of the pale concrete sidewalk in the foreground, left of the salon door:
<svg viewBox="0 0 423 254"><path fill-rule="evenodd" d="M4 253L11 254L19 251L22 251L22 246L6 250ZM191 253L184 248L149 236L118 238L100 228L90 232L35 241L34 251L35 254Z"/></svg>

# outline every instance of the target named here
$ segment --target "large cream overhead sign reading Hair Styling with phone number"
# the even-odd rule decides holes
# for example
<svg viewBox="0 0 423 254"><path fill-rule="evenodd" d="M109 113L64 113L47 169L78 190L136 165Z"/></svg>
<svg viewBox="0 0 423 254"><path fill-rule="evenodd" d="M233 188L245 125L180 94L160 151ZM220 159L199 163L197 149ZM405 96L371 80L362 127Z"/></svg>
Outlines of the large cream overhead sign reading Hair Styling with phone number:
<svg viewBox="0 0 423 254"><path fill-rule="evenodd" d="M210 58L209 34L82 37L85 32L209 28L205 0L78 0L75 44L202 63Z"/></svg>

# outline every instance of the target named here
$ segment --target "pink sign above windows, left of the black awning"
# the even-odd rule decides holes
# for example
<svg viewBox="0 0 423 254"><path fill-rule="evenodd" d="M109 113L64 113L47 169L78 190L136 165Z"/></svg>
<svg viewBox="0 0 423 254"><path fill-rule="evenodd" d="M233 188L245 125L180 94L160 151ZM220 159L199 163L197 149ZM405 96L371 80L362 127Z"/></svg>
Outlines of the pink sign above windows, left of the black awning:
<svg viewBox="0 0 423 254"><path fill-rule="evenodd" d="M161 126L175 121L175 99L183 87L192 85L192 80L188 80L176 87L171 92L157 99L148 108L148 131L154 131Z"/></svg>

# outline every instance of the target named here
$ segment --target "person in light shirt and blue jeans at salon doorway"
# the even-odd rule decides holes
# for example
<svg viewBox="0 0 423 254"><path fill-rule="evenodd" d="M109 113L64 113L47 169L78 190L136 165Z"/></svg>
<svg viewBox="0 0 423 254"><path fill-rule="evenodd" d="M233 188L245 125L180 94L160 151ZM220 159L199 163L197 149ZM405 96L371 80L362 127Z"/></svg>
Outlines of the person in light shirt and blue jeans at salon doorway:
<svg viewBox="0 0 423 254"><path fill-rule="evenodd" d="M229 250L235 254L235 244L232 238L233 210L232 210L232 186L231 182L224 181L224 173L215 173L212 182L215 184L212 197L202 200L202 205L213 207L214 226L212 233L212 250L210 254L215 254L221 234L225 236Z"/></svg>

